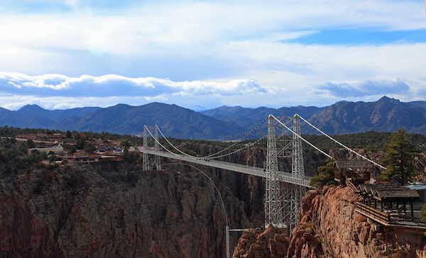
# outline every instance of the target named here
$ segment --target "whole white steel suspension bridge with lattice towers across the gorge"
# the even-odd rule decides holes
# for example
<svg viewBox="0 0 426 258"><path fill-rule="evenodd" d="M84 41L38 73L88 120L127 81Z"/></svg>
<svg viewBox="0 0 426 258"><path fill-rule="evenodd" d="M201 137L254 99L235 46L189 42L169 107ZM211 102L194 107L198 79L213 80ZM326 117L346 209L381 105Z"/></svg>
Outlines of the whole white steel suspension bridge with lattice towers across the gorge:
<svg viewBox="0 0 426 258"><path fill-rule="evenodd" d="M263 137L267 137L265 168L248 167L246 165L216 160L218 158L234 154L235 152L245 150L249 147L249 145L261 141L263 138L256 140L256 142L251 142L251 144L241 148L240 150L233 150L224 154L226 150L230 150L232 146L246 139L266 121L268 124L268 133ZM152 130L154 130L154 134L152 133ZM266 178L266 227L272 224L278 228L288 228L289 232L295 228L302 197L305 196L307 188L310 187L310 176L305 176L305 167L303 164L302 140L304 139L300 136L300 116L296 114L293 117L278 119L275 118L275 116L270 115L268 118L263 120L262 123L256 126L256 128L251 130L250 133L245 135L244 138L241 138L241 140L234 142L233 145L224 150L205 157L187 155L185 152L182 152L177 147L173 146L171 142L165 138L163 133L161 133L164 140L179 153L177 154L168 150L158 141L158 132L161 133L157 125L155 125L154 128L151 128L151 130L147 126L143 127L143 149L141 150L141 152L143 152L143 169L149 169L148 155L154 155L156 169L161 168L160 157L169 157L195 164L202 164L208 167L217 167L244 174L262 176ZM151 138L148 138L148 134L151 135ZM148 139L154 140L154 148L148 147L148 143L150 143L148 142ZM307 143L310 144L309 142ZM162 151L160 151L160 146L163 148ZM315 147L313 145L311 146ZM291 172L283 172L278 169L279 157L285 157L291 160Z"/></svg>

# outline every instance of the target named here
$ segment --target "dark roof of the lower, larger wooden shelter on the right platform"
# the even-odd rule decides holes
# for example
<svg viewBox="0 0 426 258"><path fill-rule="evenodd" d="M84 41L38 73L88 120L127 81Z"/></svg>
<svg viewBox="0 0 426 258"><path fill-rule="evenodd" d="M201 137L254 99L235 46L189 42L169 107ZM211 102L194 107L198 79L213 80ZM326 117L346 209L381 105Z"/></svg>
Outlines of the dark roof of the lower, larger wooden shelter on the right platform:
<svg viewBox="0 0 426 258"><path fill-rule="evenodd" d="M358 190L374 197L382 198L420 198L417 191L393 184L360 184Z"/></svg>

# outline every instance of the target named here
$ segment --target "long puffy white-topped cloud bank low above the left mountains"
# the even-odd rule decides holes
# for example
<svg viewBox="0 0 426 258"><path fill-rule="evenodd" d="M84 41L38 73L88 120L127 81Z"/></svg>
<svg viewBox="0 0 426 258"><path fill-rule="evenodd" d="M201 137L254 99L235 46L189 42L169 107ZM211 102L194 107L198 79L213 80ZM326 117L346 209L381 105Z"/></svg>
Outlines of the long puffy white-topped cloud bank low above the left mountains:
<svg viewBox="0 0 426 258"><path fill-rule="evenodd" d="M228 82L173 82L154 77L129 78L116 74L101 77L82 75L66 77L61 74L28 76L26 74L0 72L0 94L36 96L40 98L60 96L87 97L155 97L170 96L235 96L265 94L267 90L250 79L234 79Z"/></svg>

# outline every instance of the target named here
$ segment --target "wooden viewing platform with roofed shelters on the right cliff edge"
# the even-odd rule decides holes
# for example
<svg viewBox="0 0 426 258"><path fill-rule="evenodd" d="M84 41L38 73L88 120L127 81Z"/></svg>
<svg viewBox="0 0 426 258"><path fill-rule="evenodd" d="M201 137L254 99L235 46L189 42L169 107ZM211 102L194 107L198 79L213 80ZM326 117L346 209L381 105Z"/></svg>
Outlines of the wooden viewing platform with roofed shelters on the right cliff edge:
<svg viewBox="0 0 426 258"><path fill-rule="evenodd" d="M348 186L358 196L356 211L389 228L417 233L426 231L426 221L414 216L413 203L420 201L417 191L393 184L366 184L371 179L371 169L371 163L366 160L334 163L334 180Z"/></svg>

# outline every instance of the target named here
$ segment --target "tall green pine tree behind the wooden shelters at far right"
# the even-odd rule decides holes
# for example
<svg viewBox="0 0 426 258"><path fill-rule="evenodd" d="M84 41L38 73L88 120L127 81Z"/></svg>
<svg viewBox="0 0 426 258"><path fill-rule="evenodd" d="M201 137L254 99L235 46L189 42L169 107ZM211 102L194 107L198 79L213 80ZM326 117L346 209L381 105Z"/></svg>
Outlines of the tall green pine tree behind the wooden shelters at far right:
<svg viewBox="0 0 426 258"><path fill-rule="evenodd" d="M418 157L420 150L417 150L407 137L404 129L393 133L391 142L386 145L385 157L382 159L386 169L381 172L380 179L398 180L405 185L407 182L413 181L417 175L417 167L415 167L415 158Z"/></svg>

